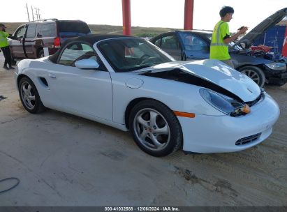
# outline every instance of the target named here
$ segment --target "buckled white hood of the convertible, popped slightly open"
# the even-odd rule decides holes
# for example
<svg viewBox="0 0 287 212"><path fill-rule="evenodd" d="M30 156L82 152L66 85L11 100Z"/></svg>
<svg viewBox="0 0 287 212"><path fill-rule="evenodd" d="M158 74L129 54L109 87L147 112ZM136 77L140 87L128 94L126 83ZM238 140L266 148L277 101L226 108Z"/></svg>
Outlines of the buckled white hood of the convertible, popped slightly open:
<svg viewBox="0 0 287 212"><path fill-rule="evenodd" d="M253 101L260 96L260 88L252 79L218 60L174 61L145 68L137 72L139 74L148 72L152 76L153 73L175 69L180 69L184 73L203 79L203 82L216 84L216 86L233 93L244 102Z"/></svg>

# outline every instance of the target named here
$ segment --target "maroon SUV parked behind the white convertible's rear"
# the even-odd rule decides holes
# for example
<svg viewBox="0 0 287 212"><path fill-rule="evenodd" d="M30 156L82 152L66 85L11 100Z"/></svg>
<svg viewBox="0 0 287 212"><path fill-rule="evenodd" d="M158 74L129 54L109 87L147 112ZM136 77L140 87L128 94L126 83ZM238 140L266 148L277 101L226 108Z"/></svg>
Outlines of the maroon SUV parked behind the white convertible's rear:
<svg viewBox="0 0 287 212"><path fill-rule="evenodd" d="M13 59L40 58L44 56L44 47L48 48L49 54L54 54L67 38L90 33L87 23L80 20L29 22L18 27L10 36L11 55Z"/></svg>

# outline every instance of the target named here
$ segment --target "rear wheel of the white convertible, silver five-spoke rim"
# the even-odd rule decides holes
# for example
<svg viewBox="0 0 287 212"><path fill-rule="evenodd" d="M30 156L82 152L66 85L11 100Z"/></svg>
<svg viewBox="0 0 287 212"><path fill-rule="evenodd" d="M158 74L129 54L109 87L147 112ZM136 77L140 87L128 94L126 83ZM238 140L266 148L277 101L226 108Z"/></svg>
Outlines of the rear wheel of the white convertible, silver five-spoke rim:
<svg viewBox="0 0 287 212"><path fill-rule="evenodd" d="M23 107L31 114L43 112L45 106L38 94L36 86L28 77L23 77L19 82L19 96Z"/></svg>

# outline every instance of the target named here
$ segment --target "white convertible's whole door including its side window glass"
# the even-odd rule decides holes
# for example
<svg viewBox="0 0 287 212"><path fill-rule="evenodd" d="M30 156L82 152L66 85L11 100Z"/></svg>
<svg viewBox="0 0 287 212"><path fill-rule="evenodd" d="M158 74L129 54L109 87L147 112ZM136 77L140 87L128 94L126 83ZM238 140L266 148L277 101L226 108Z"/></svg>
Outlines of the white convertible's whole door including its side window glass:
<svg viewBox="0 0 287 212"><path fill-rule="evenodd" d="M49 73L50 89L57 93L64 111L78 112L112 121L110 73L75 67L75 61L80 59L98 61L90 45L72 42L61 52L57 68Z"/></svg>

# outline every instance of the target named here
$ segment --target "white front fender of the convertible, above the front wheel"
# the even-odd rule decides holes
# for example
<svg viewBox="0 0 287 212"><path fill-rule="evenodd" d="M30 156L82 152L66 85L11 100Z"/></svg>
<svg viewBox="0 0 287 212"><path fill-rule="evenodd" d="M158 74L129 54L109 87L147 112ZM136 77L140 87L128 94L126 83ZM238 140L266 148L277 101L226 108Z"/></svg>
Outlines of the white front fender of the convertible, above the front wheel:
<svg viewBox="0 0 287 212"><path fill-rule="evenodd" d="M133 73L110 73L110 75L113 93L113 121L117 123L125 123L126 108L136 98L158 100L173 111L213 116L223 115L222 112L203 100L199 93L200 86ZM125 82L131 78L142 80L142 86L138 89L126 86Z"/></svg>

